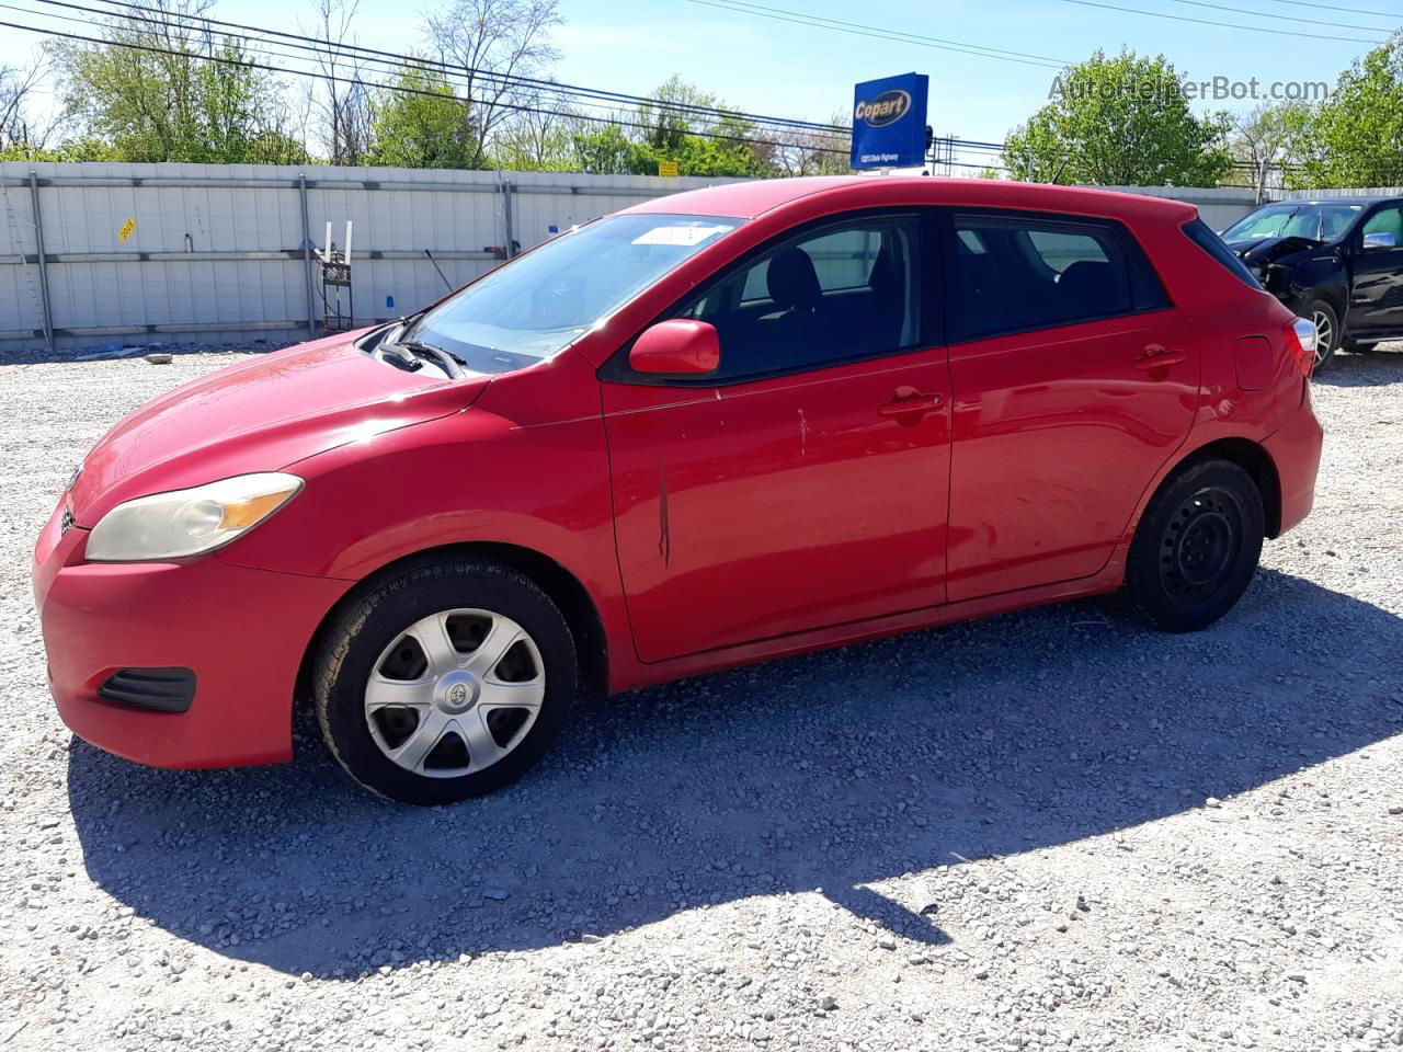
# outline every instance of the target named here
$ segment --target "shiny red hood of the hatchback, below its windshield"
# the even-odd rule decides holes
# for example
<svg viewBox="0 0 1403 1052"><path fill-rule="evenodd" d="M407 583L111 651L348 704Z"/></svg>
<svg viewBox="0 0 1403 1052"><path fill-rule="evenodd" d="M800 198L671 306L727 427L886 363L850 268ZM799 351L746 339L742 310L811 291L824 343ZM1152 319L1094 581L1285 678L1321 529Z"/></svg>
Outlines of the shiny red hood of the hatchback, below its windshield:
<svg viewBox="0 0 1403 1052"><path fill-rule="evenodd" d="M355 346L363 332L262 355L182 384L121 421L69 497L91 527L135 497L278 471L347 442L471 405L491 377L421 376Z"/></svg>

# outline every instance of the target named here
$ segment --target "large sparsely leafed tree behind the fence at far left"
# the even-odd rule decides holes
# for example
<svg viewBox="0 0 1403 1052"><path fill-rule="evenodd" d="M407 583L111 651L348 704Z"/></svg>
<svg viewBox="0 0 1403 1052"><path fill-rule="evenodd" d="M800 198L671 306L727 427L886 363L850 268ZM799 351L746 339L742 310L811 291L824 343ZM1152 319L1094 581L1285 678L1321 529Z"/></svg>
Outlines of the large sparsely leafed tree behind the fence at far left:
<svg viewBox="0 0 1403 1052"><path fill-rule="evenodd" d="M239 45L194 18L206 10L198 0L154 3L154 17L111 20L107 43L55 45L79 137L123 161L303 163L276 79L240 65Z"/></svg>

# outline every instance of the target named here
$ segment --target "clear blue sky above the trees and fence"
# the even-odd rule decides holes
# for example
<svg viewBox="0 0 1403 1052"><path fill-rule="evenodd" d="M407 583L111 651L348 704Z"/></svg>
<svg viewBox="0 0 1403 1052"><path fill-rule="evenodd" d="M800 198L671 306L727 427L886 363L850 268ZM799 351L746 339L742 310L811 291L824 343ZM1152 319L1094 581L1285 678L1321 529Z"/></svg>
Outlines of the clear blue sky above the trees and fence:
<svg viewBox="0 0 1403 1052"><path fill-rule="evenodd" d="M811 15L1072 62L1096 48L1163 52L1194 80L1257 77L1264 90L1282 80L1333 84L1351 59L1369 49L1368 41L1383 41L1390 29L1403 25L1400 0L1347 0L1354 11L1331 10L1324 0L1320 6L1284 0L1104 0L1114 7L1292 31L1301 36L1180 22L1072 0L762 1ZM39 7L34 0L10 3ZM393 50L419 46L421 13L434 6L429 0L418 6L362 0L361 42ZM310 21L309 7L299 0L220 0L213 14L296 31ZM930 76L929 122L939 133L1002 140L1005 132L1045 104L1055 74L1052 69L794 25L692 0L560 0L560 13L565 24L554 34L563 55L553 70L556 79L641 94L679 73L738 108L762 114L825 119L850 105L854 81L916 70ZM3 18L39 21L13 10L4 11ZM0 63L22 60L31 46L27 34L0 29ZM1232 101L1200 104L1202 109L1249 107Z"/></svg>

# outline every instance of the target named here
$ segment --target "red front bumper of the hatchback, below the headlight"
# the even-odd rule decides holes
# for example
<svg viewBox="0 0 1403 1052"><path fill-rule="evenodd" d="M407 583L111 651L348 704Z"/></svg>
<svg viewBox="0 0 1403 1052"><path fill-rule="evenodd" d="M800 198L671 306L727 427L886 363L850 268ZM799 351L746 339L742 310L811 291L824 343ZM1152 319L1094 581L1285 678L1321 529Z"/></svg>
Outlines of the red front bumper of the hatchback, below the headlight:
<svg viewBox="0 0 1403 1052"><path fill-rule="evenodd" d="M292 757L292 700L313 633L351 582L181 562L84 562L87 530L55 509L34 553L34 595L63 722L153 767L229 767ZM195 672L188 711L101 700L126 668Z"/></svg>

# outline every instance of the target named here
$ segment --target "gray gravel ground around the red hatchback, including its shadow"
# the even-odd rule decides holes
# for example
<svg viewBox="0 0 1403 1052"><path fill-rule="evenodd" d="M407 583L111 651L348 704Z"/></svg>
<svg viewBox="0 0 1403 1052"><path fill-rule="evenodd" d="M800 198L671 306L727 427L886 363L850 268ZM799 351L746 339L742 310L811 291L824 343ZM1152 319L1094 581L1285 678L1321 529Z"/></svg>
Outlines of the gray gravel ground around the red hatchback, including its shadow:
<svg viewBox="0 0 1403 1052"><path fill-rule="evenodd" d="M1193 637L1082 602L577 710L490 800L72 741L29 553L233 355L0 367L0 1049L1403 1045L1403 353Z"/></svg>

